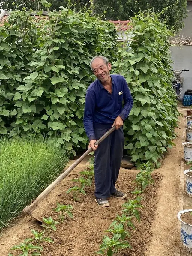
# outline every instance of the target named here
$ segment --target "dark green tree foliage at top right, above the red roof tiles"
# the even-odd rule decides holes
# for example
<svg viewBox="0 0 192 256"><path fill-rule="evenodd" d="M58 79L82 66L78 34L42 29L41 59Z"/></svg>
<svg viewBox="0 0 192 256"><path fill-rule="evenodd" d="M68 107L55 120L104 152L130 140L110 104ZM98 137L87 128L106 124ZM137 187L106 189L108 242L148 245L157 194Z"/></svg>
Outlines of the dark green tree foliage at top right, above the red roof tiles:
<svg viewBox="0 0 192 256"><path fill-rule="evenodd" d="M181 29L184 26L183 19L187 15L187 0L96 0L96 13L102 13L106 10L105 17L110 20L129 20L139 11L145 11L152 8L154 12L161 12L159 20L166 21L169 29ZM167 8L170 6L169 8Z"/></svg>

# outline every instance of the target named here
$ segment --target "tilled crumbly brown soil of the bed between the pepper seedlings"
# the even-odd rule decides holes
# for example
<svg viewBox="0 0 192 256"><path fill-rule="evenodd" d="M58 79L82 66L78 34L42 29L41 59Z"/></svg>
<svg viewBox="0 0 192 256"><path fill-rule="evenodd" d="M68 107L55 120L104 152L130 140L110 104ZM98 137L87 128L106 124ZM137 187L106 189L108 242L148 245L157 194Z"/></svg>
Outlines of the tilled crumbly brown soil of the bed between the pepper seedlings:
<svg viewBox="0 0 192 256"><path fill-rule="evenodd" d="M121 169L119 179L116 184L117 188L125 191L128 194L129 199L134 199L136 196L131 194L134 190L134 179L137 174L135 170ZM116 198L110 198L110 207L99 208L95 202L94 197L94 184L91 187L86 187L86 196L81 195L79 202L73 200L72 194L66 194L68 188L74 185L71 181L73 178L77 178L79 173L70 174L69 177L62 182L62 190L55 191L55 200L46 202L46 207L41 210L41 216L52 216L55 220L58 218L58 214L52 211L56 206L56 202L62 204L71 204L74 209L73 219L67 218L64 223L57 225L57 231L51 234L51 238L55 241L55 244L44 244L43 256L90 256L95 255L95 251L99 250L99 245L102 242L104 230L107 230L116 217L117 214L121 214L122 203L126 200L119 200ZM146 188L143 197L142 204L143 209L140 209L140 223L134 220L136 230L130 230L131 238L129 239L133 249L126 249L120 251L118 255L128 256L143 256L147 245L153 236L151 231L151 225L155 218L156 204L157 204L157 191L161 185L162 175L160 173L153 173L153 179L155 183L149 185ZM93 182L94 183L94 182ZM35 213L34 213L35 215ZM27 218L28 227L24 228L23 232L17 236L17 242L32 237L30 229L42 230L32 218ZM16 242L16 241L15 241ZM7 251L6 251L7 252ZM12 251L13 253L13 251ZM0 255L7 255L0 254Z"/></svg>

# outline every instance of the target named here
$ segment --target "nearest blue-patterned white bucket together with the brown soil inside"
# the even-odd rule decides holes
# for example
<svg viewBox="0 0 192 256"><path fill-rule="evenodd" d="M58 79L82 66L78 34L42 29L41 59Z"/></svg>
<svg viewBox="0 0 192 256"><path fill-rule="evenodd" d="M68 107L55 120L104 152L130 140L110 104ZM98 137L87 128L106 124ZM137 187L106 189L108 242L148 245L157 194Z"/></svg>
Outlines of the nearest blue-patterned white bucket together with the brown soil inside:
<svg viewBox="0 0 192 256"><path fill-rule="evenodd" d="M192 209L183 210L177 214L181 223L181 243L183 247L192 252Z"/></svg>

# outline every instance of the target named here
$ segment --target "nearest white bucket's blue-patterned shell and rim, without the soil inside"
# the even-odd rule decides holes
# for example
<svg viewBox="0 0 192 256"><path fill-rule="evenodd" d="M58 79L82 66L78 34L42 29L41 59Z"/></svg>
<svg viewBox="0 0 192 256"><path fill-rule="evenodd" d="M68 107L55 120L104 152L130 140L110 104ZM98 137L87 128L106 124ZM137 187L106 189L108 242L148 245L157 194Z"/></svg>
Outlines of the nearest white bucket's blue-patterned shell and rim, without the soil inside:
<svg viewBox="0 0 192 256"><path fill-rule="evenodd" d="M181 222L181 243L187 251L192 252L192 226L181 220L181 215L185 212L192 212L192 209L183 210L177 214L177 218Z"/></svg>

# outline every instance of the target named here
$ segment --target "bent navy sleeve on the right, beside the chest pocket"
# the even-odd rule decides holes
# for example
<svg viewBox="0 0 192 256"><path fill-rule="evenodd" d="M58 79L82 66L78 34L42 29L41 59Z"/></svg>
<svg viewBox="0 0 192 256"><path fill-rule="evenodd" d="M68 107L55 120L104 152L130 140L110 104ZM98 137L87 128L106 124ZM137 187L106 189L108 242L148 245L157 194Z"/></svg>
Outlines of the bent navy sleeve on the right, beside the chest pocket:
<svg viewBox="0 0 192 256"><path fill-rule="evenodd" d="M123 108L122 112L119 114L119 116L121 116L123 121L125 121L125 119L128 117L128 115L133 107L133 98L131 96L131 92L129 90L127 81L125 80L124 77L123 77L122 83L123 83L124 108Z"/></svg>

